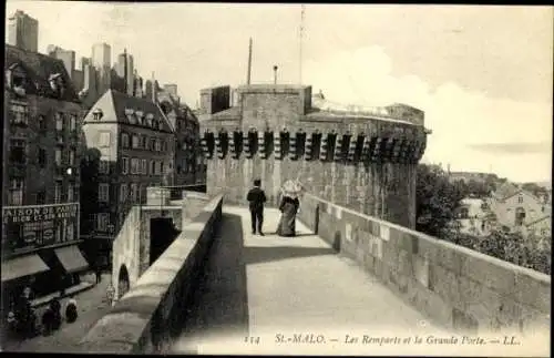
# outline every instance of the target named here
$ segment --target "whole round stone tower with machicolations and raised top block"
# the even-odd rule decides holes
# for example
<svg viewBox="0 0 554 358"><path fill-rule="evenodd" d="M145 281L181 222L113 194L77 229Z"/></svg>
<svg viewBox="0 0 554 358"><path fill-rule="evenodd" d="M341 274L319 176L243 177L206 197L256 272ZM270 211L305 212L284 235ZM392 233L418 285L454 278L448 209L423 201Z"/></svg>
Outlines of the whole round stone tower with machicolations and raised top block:
<svg viewBox="0 0 554 358"><path fill-rule="evenodd" d="M244 204L258 177L269 204L286 180L338 205L407 227L416 224L416 166L427 143L422 111L326 106L311 86L244 85L201 91L208 194Z"/></svg>

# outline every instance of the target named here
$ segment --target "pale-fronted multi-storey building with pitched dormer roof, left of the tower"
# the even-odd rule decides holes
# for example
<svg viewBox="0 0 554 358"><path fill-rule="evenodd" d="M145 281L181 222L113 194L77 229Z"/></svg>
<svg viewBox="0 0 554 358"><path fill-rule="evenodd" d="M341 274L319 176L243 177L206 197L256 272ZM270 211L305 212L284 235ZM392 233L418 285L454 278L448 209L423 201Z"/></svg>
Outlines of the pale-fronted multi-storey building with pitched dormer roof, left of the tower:
<svg viewBox="0 0 554 358"><path fill-rule="evenodd" d="M83 234L104 239L110 249L129 209L145 201L146 187L171 184L174 130L154 102L109 90L84 117L83 133L83 188L94 197L83 206Z"/></svg>

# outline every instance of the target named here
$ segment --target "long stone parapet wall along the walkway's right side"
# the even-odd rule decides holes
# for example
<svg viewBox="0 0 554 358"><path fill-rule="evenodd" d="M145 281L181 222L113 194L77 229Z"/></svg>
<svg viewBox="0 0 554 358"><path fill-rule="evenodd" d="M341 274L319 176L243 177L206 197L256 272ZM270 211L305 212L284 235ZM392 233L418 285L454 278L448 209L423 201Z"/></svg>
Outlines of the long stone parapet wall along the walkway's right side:
<svg viewBox="0 0 554 358"><path fill-rule="evenodd" d="M300 205L302 223L438 324L461 333L548 336L550 276L310 194Z"/></svg>

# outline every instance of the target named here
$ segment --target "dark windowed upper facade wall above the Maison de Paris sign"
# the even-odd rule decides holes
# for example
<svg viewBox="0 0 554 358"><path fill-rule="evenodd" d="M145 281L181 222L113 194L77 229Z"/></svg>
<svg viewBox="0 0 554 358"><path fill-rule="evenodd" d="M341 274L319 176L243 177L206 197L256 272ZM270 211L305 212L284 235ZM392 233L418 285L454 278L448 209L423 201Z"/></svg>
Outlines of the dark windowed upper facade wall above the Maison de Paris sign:
<svg viewBox="0 0 554 358"><path fill-rule="evenodd" d="M25 163L22 165L6 165L2 171L3 187L9 187L10 178L24 181L22 205L37 205L37 194L45 194L44 203L54 203L54 187L57 182L62 184L62 197L66 198L68 187L71 184L73 202L79 202L80 186L80 158L81 147L81 106L79 103L58 101L50 98L27 95L17 99L10 92L4 92L4 120L3 123L3 163L10 164L10 140L20 139L27 143ZM11 123L13 114L12 104L23 104L28 109L28 124L21 126ZM64 119L63 131L57 130L57 113L62 113ZM70 131L70 116L76 117L75 131ZM40 127L41 119L43 129ZM58 146L63 143L63 146ZM39 165L39 149L45 151L45 165ZM55 149L62 149L62 165L55 164ZM74 162L70 165L70 151L74 153ZM73 174L66 175L68 167ZM9 191L3 191L2 203L8 203Z"/></svg>

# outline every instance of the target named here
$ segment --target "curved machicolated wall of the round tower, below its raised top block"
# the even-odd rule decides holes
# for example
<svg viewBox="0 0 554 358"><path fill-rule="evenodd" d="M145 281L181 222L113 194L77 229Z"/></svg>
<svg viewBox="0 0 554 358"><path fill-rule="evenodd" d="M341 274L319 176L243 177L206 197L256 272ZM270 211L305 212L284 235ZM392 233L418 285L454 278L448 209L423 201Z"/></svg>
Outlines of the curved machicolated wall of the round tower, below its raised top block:
<svg viewBox="0 0 554 358"><path fill-rule="evenodd" d="M261 153L259 145L256 149L250 145L247 153L245 144L240 147L235 137L245 139L250 132L238 132L237 135L230 124L223 125L219 122L214 122L209 127L205 125L206 130L213 131L214 136L218 133L227 135L227 144L223 140L217 144L214 140L212 149L206 135L208 172L217 173L207 176L208 194L225 191L226 201L245 205L246 194L254 180L260 178L268 205L275 206L283 183L299 180L308 192L339 205L407 227L416 225L417 162L425 143L420 129L391 127L387 123L371 122L341 127L336 123L302 121L287 130L288 141L279 137L280 150L276 143L277 133L281 132L269 132L266 134L273 139L273 143L264 139L265 152ZM394 129L404 131L402 140L401 135L398 140L393 139ZM261 133L255 132L256 142L259 142ZM314 143L312 139L319 134L321 136ZM290 140L290 136L296 141ZM325 158L322 139L328 140ZM379 144L380 139L384 144ZM394 145L388 146L389 140L394 141ZM296 151L291 149L291 143L296 143ZM307 153L309 145L310 154Z"/></svg>

